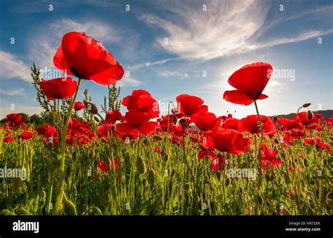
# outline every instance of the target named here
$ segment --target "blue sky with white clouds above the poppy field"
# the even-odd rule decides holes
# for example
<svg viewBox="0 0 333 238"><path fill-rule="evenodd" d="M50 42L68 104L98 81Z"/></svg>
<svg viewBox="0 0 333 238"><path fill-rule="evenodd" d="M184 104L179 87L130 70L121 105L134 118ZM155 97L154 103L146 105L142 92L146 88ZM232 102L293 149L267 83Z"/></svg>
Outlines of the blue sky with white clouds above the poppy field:
<svg viewBox="0 0 333 238"><path fill-rule="evenodd" d="M261 114L291 113L305 102L313 111L333 109L332 1L0 0L0 8L0 118L41 111L29 67L54 69L69 31L85 31L123 64L122 97L145 89L167 104L193 94L218 116L236 111L240 118L255 109L223 100L232 89L228 77L265 61L275 77L263 91L268 99L259 101ZM78 100L85 88L103 102L107 87L84 80Z"/></svg>

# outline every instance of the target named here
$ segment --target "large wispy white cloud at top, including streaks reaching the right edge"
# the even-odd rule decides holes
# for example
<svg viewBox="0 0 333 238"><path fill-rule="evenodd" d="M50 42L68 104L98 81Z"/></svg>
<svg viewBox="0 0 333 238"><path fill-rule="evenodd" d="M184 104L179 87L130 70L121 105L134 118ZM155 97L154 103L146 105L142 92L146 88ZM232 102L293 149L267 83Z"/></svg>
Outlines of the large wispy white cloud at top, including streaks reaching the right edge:
<svg viewBox="0 0 333 238"><path fill-rule="evenodd" d="M274 45L305 41L333 32L333 29L305 29L289 38L273 38L268 41L260 41L258 38L263 31L280 22L311 13L332 11L332 6L303 10L266 25L266 15L270 8L268 1L207 1L207 11L202 9L201 3L192 4L190 1L160 4L169 10L172 18L170 15L169 18L162 18L161 15L149 13L141 15L141 20L152 27L163 29L166 35L159 36L157 43L164 50L183 59L208 60L242 54Z"/></svg>

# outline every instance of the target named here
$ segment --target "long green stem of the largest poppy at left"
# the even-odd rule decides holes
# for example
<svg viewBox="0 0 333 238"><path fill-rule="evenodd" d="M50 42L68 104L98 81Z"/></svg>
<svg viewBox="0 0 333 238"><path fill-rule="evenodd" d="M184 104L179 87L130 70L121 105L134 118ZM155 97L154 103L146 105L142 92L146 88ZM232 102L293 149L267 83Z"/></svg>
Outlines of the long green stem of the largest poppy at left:
<svg viewBox="0 0 333 238"><path fill-rule="evenodd" d="M60 214L60 204L63 203L63 193L64 193L64 180L65 180L65 147L66 147L66 137L67 137L67 129L70 124L70 118L72 116L72 111L74 108L74 102L77 99L77 93L79 92L79 87L81 84L81 78L77 82L77 90L75 91L74 97L72 99L72 104L70 104L70 111L68 111L68 115L65 122L65 129L63 130L63 136L61 137L60 144L60 159L61 159L61 167L60 167L60 185L58 187L57 199L55 200L55 215Z"/></svg>

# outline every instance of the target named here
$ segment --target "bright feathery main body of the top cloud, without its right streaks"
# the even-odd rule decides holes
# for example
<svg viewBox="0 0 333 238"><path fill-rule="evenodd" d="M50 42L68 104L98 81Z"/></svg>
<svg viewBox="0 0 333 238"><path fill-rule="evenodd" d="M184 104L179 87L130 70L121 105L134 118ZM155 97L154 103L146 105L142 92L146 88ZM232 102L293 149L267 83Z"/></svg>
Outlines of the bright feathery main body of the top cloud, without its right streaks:
<svg viewBox="0 0 333 238"><path fill-rule="evenodd" d="M172 18L162 19L152 14L141 18L148 25L166 31L166 36L157 38L162 48L188 59L211 59L255 47L242 39L249 38L263 25L270 4L239 0L206 4L207 11L202 10L202 4L190 1L177 6L168 3L163 7L174 14Z"/></svg>

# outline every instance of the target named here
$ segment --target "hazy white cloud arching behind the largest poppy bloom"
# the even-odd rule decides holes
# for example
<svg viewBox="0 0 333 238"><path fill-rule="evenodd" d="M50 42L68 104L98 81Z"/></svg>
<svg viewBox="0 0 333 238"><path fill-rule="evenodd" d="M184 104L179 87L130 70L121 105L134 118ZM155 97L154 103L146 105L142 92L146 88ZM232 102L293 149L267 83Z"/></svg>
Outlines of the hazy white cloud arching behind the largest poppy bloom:
<svg viewBox="0 0 333 238"><path fill-rule="evenodd" d="M37 62L39 68L54 68L53 55L58 49L63 36L70 31L84 31L88 36L97 41L117 43L122 37L117 31L105 22L89 20L77 22L70 18L64 18L44 25L39 31L34 32L30 38L30 59Z"/></svg>

